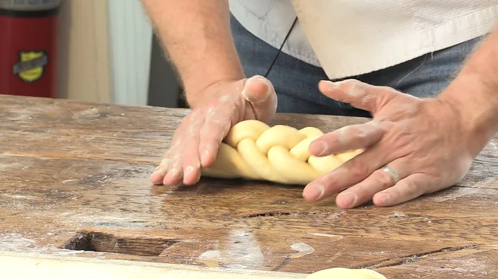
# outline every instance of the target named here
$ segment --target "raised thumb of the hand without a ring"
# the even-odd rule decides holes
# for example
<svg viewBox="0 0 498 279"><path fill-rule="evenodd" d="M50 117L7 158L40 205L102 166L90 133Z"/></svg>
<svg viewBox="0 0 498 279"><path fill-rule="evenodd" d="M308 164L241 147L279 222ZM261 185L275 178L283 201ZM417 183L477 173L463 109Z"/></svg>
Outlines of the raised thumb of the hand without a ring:
<svg viewBox="0 0 498 279"><path fill-rule="evenodd" d="M250 77L241 94L251 104L256 119L269 122L273 118L277 111L277 94L270 80L261 75Z"/></svg>

